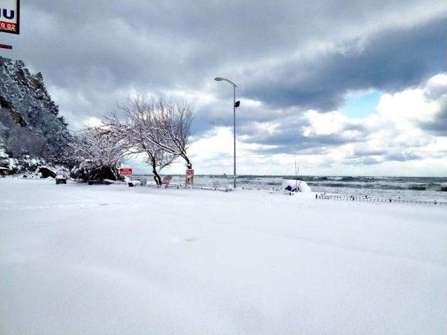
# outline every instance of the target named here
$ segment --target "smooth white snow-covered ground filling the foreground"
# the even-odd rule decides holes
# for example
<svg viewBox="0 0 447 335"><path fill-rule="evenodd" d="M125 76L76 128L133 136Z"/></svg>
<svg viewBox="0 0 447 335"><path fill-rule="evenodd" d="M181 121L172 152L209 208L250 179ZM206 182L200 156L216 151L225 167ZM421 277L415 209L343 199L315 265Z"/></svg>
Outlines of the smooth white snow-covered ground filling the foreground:
<svg viewBox="0 0 447 335"><path fill-rule="evenodd" d="M1 334L447 334L446 218L1 179Z"/></svg>

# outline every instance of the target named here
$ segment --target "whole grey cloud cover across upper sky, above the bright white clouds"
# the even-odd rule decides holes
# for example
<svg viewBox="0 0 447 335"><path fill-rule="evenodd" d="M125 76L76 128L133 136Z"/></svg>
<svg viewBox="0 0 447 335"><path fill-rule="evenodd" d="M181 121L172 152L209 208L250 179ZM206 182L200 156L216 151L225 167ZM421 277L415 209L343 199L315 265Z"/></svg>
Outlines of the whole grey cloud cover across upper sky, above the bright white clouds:
<svg viewBox="0 0 447 335"><path fill-rule="evenodd" d="M22 33L5 42L11 57L43 72L72 123L115 108L129 91L186 90L221 99L198 104L200 135L231 124L231 90L216 75L240 85L247 131L337 107L349 90L417 84L445 69L446 13L443 1L22 1ZM293 136L269 138L291 145Z"/></svg>

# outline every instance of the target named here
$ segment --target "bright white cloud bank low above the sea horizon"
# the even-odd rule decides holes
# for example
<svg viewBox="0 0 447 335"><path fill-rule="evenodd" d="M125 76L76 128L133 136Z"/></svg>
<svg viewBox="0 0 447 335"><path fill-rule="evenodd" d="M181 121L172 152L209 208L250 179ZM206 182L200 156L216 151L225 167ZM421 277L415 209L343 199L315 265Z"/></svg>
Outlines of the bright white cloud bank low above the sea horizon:
<svg viewBox="0 0 447 335"><path fill-rule="evenodd" d="M290 174L298 159L308 174L447 174L447 137L423 128L436 121L447 94L447 75L431 77L420 87L383 94L376 112L365 119L347 117L342 112L309 110L298 121L252 122L257 136L239 137L238 169L251 174ZM291 117L293 119L293 117ZM306 125L306 126L300 126ZM323 145L314 152L297 151L265 154L273 145L256 145L262 136L280 136L286 128L309 139L339 138L341 144ZM251 142L250 142L251 140ZM268 142L268 141L265 141ZM300 143L296 145L300 147ZM228 172L233 163L233 135L230 128L215 128L191 146L206 172ZM266 151L268 153L268 151ZM201 165L202 163L198 164Z"/></svg>

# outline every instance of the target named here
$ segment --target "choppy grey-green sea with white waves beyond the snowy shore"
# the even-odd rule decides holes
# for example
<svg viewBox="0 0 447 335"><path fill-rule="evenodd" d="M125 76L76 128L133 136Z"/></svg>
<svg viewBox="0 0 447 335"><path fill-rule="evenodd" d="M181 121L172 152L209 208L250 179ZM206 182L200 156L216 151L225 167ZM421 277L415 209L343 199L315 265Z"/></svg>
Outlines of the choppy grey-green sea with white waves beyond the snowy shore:
<svg viewBox="0 0 447 335"><path fill-rule="evenodd" d="M150 175L145 177L148 181L152 178ZM242 175L237 177L237 187L261 190L281 189L285 179L295 179L295 177ZM306 181L312 191L316 192L447 201L447 177L300 176L298 179ZM172 182L183 184L184 176L173 175ZM232 186L233 176L199 174L194 177L194 184L211 187Z"/></svg>

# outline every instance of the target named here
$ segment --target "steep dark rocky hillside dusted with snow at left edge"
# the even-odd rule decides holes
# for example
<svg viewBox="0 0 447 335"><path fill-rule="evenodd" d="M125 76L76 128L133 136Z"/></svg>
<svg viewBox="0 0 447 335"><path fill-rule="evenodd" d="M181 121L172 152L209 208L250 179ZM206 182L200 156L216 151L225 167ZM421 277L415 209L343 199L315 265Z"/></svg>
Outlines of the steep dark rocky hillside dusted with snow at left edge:
<svg viewBox="0 0 447 335"><path fill-rule="evenodd" d="M0 147L10 158L64 163L70 133L41 73L0 57Z"/></svg>

